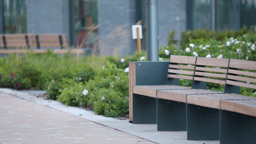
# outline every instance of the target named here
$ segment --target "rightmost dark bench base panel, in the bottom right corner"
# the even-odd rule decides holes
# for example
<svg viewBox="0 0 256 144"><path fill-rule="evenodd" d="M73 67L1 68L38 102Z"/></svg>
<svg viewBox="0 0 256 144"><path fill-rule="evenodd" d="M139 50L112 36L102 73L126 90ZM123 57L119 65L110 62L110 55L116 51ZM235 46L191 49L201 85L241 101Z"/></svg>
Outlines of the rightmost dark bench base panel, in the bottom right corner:
<svg viewBox="0 0 256 144"><path fill-rule="evenodd" d="M256 143L256 117L220 111L220 143Z"/></svg>

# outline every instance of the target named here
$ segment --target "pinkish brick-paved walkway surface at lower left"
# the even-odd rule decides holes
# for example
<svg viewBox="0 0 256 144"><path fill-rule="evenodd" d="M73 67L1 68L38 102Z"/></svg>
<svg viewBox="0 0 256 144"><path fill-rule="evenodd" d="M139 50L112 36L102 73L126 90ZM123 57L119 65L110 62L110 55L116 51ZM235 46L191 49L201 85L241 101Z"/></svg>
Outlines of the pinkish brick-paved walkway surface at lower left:
<svg viewBox="0 0 256 144"><path fill-rule="evenodd" d="M0 93L0 143L153 143Z"/></svg>

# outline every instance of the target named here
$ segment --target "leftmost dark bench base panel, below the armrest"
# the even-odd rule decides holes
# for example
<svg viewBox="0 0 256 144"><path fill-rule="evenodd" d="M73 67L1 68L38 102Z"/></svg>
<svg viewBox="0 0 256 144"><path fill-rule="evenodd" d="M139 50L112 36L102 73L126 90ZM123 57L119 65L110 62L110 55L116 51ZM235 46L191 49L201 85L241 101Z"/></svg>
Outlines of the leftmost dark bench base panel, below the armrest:
<svg viewBox="0 0 256 144"><path fill-rule="evenodd" d="M156 98L133 94L133 124L156 124Z"/></svg>

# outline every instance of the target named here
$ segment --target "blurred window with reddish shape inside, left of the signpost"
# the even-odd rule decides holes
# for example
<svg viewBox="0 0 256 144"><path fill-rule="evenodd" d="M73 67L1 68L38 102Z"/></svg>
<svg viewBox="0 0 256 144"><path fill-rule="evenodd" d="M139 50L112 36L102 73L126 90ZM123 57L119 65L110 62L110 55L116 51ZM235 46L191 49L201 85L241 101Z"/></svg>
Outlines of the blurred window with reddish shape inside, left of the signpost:
<svg viewBox="0 0 256 144"><path fill-rule="evenodd" d="M94 47L98 37L97 0L71 3L71 42L75 47Z"/></svg>

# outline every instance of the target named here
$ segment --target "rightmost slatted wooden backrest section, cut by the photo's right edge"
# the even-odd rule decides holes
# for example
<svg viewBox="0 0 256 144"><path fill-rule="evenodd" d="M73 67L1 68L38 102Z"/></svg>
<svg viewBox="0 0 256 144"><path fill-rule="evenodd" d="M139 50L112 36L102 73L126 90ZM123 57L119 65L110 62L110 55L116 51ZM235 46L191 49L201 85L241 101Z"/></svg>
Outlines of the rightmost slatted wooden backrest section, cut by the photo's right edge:
<svg viewBox="0 0 256 144"><path fill-rule="evenodd" d="M256 89L255 71L256 61L230 59L226 84Z"/></svg>

